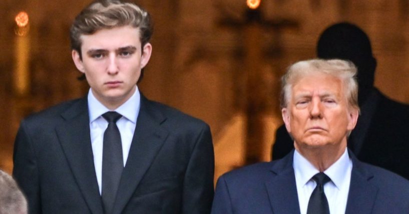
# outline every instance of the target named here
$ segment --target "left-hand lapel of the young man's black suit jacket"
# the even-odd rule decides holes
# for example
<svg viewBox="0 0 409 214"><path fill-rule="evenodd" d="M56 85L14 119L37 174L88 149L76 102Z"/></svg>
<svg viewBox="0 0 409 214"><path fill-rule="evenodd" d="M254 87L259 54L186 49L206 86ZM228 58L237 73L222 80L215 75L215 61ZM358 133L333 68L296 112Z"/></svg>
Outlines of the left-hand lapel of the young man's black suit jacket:
<svg viewBox="0 0 409 214"><path fill-rule="evenodd" d="M65 122L56 127L58 139L80 191L94 214L101 214L102 203L91 147L87 98L62 114Z"/></svg>

